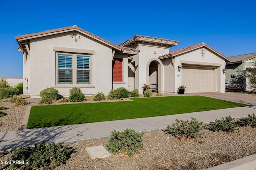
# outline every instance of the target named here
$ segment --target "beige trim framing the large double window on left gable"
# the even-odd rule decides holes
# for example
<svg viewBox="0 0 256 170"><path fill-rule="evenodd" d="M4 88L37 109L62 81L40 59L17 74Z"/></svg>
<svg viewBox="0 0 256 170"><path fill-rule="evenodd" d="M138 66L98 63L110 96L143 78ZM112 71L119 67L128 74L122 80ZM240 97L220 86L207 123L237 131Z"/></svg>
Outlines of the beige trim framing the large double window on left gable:
<svg viewBox="0 0 256 170"><path fill-rule="evenodd" d="M72 83L59 83L59 76L58 76L58 55L72 55ZM88 56L90 57L90 69L78 69L77 68L77 56ZM57 52L55 53L55 59L56 59L56 86L55 87L63 87L63 86L80 86L80 87L90 87L95 88L95 86L92 85L92 55L91 54L82 54L82 53L66 53L66 52ZM89 83L77 83L77 70L89 70Z"/></svg>

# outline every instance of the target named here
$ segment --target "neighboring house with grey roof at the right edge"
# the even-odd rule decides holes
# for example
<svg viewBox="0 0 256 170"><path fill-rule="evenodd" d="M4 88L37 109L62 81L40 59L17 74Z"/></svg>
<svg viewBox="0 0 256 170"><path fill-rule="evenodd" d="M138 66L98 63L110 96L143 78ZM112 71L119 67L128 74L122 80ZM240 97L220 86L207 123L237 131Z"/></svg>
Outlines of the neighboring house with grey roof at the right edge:
<svg viewBox="0 0 256 170"><path fill-rule="evenodd" d="M251 90L245 77L248 68L256 61L256 53L228 57L232 62L226 63L226 90Z"/></svg>

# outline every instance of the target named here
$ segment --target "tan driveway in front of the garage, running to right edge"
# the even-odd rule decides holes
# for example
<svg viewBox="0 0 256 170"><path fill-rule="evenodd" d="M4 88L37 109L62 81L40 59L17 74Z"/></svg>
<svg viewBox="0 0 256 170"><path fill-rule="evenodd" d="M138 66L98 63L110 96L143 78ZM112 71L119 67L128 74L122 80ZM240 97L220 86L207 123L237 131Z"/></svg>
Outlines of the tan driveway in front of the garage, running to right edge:
<svg viewBox="0 0 256 170"><path fill-rule="evenodd" d="M179 96L180 94L170 94L165 96ZM221 100L227 100L231 102L237 102L242 104L249 104L256 106L256 96L248 93L240 93L240 92L225 92L225 93L185 93L183 96L206 96L210 98L216 98Z"/></svg>

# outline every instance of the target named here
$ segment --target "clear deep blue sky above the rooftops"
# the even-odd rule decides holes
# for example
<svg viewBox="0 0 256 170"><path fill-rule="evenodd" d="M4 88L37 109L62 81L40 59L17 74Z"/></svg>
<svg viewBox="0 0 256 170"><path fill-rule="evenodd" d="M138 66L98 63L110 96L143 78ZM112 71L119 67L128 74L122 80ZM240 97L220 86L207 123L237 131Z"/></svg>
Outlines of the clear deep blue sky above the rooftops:
<svg viewBox="0 0 256 170"><path fill-rule="evenodd" d="M173 39L170 51L206 43L227 57L256 52L256 1L0 2L0 76L22 78L17 35L77 25L112 43L135 34Z"/></svg>

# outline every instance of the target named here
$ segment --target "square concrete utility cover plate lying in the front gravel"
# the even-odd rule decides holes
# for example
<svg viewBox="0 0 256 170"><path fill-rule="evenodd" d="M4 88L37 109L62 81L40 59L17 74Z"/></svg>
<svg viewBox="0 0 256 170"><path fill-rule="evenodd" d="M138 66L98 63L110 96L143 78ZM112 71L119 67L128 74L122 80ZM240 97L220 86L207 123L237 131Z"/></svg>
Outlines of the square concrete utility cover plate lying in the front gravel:
<svg viewBox="0 0 256 170"><path fill-rule="evenodd" d="M87 147L86 150L92 159L106 158L111 155L102 145L96 147Z"/></svg>

